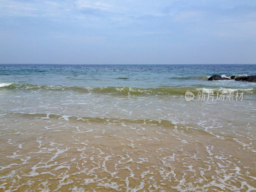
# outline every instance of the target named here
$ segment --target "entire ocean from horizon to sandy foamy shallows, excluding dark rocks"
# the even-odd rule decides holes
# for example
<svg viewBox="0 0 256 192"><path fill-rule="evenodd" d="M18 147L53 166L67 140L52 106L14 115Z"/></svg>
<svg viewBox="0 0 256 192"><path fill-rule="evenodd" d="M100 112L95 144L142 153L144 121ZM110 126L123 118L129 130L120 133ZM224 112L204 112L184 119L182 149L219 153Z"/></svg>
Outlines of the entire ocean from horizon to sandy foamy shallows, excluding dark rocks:
<svg viewBox="0 0 256 192"><path fill-rule="evenodd" d="M0 65L0 191L256 191L256 65Z"/></svg>

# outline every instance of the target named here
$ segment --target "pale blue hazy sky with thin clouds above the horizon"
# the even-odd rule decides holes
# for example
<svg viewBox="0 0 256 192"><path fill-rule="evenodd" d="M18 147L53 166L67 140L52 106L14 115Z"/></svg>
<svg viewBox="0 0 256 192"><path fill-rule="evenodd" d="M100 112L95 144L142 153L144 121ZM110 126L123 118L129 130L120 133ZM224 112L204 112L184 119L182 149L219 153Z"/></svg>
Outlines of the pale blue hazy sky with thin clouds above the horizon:
<svg viewBox="0 0 256 192"><path fill-rule="evenodd" d="M0 0L0 63L256 64L256 1Z"/></svg>

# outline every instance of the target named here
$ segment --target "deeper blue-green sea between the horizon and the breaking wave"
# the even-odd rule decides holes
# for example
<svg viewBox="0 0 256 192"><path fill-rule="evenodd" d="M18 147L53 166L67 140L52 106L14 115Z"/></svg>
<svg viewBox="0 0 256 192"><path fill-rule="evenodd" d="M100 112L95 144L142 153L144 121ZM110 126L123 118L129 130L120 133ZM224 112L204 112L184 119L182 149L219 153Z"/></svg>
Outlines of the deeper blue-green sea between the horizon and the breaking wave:
<svg viewBox="0 0 256 192"><path fill-rule="evenodd" d="M0 65L0 83L78 87L255 88L234 81L206 81L210 76L256 74L256 65Z"/></svg>

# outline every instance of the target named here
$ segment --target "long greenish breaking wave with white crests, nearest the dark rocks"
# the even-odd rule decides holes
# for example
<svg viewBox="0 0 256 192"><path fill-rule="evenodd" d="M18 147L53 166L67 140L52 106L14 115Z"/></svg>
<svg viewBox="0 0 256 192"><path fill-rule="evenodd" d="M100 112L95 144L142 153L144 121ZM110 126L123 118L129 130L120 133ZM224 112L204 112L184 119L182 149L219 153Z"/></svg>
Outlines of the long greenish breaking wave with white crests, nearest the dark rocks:
<svg viewBox="0 0 256 192"><path fill-rule="evenodd" d="M196 87L182 87L182 88L136 88L136 87L78 87L78 86L62 86L62 85L36 85L36 84L16 84L16 83L0 83L1 89L23 89L23 90L48 90L48 91L75 91L82 93L105 93L105 94L119 94L119 95L185 95L187 91L194 94L197 92L206 93L227 93L227 92L248 92L256 93L256 88L235 89L235 88L196 88Z"/></svg>

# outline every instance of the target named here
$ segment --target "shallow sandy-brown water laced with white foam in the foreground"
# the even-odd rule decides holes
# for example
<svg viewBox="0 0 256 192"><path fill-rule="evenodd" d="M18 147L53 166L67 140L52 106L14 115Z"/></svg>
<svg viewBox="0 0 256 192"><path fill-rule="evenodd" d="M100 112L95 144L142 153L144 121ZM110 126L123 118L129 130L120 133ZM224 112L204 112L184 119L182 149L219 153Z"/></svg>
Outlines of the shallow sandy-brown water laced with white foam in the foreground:
<svg viewBox="0 0 256 192"><path fill-rule="evenodd" d="M4 125L2 190L256 190L252 132L241 137L164 121L47 117L17 115Z"/></svg>

